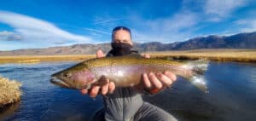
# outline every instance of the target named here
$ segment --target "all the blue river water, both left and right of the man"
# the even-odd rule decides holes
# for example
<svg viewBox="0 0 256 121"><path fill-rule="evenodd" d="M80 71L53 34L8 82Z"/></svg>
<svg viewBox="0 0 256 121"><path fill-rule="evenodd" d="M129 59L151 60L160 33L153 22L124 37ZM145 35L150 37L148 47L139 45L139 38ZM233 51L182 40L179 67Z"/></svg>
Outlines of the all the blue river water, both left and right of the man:
<svg viewBox="0 0 256 121"><path fill-rule="evenodd" d="M36 65L0 65L0 75L20 81L20 106L3 112L4 120L90 120L102 107L102 97L91 99L78 90L61 89L49 83L49 76L76 62ZM180 120L253 120L256 114L256 65L211 62L206 73L205 94L183 78L145 101L171 112ZM14 110L14 108L12 108Z"/></svg>

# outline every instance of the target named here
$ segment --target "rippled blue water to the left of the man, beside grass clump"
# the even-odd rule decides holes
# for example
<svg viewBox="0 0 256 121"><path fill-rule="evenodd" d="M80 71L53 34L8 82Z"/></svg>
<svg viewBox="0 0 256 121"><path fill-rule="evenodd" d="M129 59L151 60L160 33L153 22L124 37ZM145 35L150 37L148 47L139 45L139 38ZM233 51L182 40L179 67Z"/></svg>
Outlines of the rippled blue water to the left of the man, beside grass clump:
<svg viewBox="0 0 256 121"><path fill-rule="evenodd" d="M61 89L49 83L49 76L75 62L40 63L37 65L0 65L0 75L20 81L23 95L20 107L5 120L89 120L102 107L78 90Z"/></svg>

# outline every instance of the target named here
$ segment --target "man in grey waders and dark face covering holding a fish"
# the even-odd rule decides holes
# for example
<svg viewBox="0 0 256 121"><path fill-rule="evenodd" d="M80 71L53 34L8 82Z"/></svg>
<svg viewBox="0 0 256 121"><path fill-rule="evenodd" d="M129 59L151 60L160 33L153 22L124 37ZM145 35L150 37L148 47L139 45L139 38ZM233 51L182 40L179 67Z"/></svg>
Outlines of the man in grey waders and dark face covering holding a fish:
<svg viewBox="0 0 256 121"><path fill-rule="evenodd" d="M139 55L137 51L131 50L133 43L131 41L131 31L125 26L117 26L112 32L111 49L108 52L109 56L120 55ZM101 50L96 53L97 58L104 57ZM144 57L149 58L149 55ZM170 87L176 76L172 72L149 72L143 73L142 83L137 87L116 88L113 82L100 86L95 86L92 89L81 90L82 94L90 94L91 97L96 97L100 92L103 95L105 108L96 113L94 120L109 120L109 121L172 121L177 120L171 114L155 107L147 102L143 102L142 92L154 94L166 87Z"/></svg>

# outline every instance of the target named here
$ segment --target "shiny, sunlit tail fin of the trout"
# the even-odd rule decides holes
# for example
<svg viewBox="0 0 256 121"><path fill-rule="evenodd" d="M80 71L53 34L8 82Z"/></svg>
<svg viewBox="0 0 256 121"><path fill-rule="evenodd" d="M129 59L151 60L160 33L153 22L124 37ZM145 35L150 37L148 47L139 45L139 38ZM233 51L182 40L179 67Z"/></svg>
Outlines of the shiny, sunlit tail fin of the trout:
<svg viewBox="0 0 256 121"><path fill-rule="evenodd" d="M205 93L208 93L207 83L204 79L204 74L207 71L209 61L208 60L194 60L189 61L188 66L191 67L193 76L187 78L198 89L201 89Z"/></svg>

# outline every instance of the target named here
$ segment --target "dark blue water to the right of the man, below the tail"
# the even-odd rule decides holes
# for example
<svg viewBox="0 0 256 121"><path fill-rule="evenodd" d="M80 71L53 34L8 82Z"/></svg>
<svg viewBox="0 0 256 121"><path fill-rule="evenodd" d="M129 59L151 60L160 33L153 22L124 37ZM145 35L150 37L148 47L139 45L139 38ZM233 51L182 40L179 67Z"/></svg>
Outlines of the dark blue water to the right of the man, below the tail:
<svg viewBox="0 0 256 121"><path fill-rule="evenodd" d="M145 99L181 120L253 120L256 114L256 65L211 62L208 94L182 78L165 92ZM165 100L159 100L163 99Z"/></svg>

